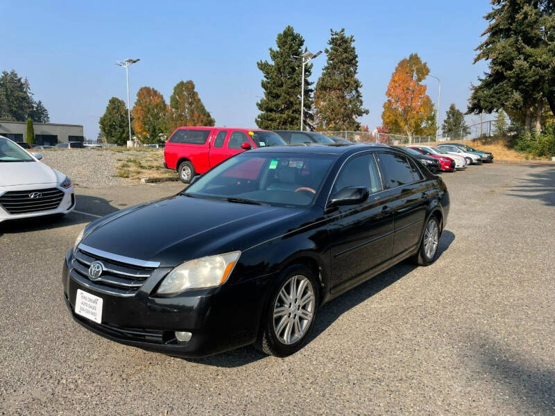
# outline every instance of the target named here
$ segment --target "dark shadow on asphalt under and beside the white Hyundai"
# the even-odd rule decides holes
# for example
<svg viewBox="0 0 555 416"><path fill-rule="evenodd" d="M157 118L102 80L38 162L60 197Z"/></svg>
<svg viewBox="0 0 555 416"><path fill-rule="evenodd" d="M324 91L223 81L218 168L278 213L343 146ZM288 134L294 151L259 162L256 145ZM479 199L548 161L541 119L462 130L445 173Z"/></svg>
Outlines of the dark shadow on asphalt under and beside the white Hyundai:
<svg viewBox="0 0 555 416"><path fill-rule="evenodd" d="M95 196L78 195L76 196L76 210L88 212L98 216L105 216L114 211L117 207L112 207L109 200ZM3 234L18 234L20 232L42 231L67 227L69 225L86 224L96 220L95 216L80 214L72 211L66 215L46 215L33 218L22 218L19 220L6 220L0 223L0 237Z"/></svg>

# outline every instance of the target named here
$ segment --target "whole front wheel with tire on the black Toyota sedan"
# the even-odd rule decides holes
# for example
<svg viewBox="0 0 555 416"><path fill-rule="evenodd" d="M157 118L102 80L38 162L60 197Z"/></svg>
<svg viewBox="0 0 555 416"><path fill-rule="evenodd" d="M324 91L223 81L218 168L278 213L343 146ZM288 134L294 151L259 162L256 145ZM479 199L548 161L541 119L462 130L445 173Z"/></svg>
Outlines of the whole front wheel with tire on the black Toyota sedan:
<svg viewBox="0 0 555 416"><path fill-rule="evenodd" d="M287 269L264 311L257 348L278 357L298 352L314 328L319 302L314 272L302 265Z"/></svg>

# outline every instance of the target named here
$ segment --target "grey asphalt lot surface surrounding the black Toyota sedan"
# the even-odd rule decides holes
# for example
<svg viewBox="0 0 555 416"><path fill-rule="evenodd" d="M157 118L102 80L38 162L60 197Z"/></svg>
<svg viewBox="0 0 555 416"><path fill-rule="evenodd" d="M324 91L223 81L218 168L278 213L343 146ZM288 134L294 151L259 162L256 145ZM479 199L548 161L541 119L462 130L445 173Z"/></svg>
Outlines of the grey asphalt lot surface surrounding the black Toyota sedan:
<svg viewBox="0 0 555 416"><path fill-rule="evenodd" d="M0 414L554 415L555 166L443 178L452 209L436 263L402 263L323 306L311 342L283 359L246 347L185 360L96 336L71 320L60 284L91 218L3 225ZM77 209L180 188L78 189Z"/></svg>

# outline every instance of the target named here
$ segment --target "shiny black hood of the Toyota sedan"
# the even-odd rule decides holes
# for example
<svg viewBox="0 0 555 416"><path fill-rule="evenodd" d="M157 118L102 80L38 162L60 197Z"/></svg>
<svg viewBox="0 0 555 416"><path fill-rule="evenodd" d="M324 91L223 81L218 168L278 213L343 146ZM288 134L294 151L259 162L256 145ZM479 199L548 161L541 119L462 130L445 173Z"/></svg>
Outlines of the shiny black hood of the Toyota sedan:
<svg viewBox="0 0 555 416"><path fill-rule="evenodd" d="M178 194L96 220L81 243L176 266L198 257L248 250L294 228L306 211Z"/></svg>

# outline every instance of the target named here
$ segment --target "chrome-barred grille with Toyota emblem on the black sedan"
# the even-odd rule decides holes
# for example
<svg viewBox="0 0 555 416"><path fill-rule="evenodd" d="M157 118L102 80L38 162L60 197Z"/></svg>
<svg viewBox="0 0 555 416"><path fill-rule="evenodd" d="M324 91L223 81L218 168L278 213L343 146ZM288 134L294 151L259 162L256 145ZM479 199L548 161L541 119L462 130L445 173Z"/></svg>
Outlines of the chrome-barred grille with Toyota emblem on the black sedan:
<svg viewBox="0 0 555 416"><path fill-rule="evenodd" d="M106 254L103 257L79 247L71 263L73 272L71 275L84 286L89 286L96 291L133 296L155 270L155 268L145 268L110 259L108 253ZM96 279L89 276L89 266L93 261L99 261L103 266L101 275Z"/></svg>

